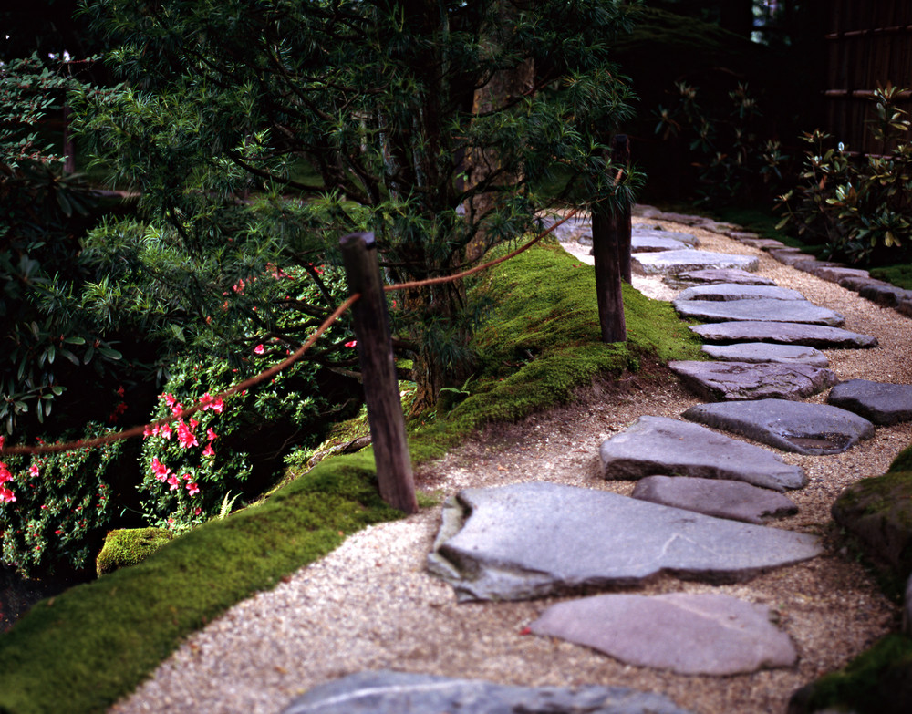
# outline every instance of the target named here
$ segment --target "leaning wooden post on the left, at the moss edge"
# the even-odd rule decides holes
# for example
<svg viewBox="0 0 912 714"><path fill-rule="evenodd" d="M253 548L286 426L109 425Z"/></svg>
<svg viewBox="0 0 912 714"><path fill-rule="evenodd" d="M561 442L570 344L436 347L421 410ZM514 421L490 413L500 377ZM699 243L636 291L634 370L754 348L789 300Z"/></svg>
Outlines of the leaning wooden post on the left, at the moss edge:
<svg viewBox="0 0 912 714"><path fill-rule="evenodd" d="M389 336L389 313L373 233L351 233L341 241L348 290L360 293L352 305L358 358L368 405L380 497L393 508L418 512L405 417Z"/></svg>

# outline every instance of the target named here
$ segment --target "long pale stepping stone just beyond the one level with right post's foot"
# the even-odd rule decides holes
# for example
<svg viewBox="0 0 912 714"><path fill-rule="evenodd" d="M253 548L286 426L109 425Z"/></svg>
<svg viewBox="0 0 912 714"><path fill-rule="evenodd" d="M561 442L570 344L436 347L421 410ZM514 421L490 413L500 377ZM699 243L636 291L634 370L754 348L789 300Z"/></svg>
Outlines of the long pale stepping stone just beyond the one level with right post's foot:
<svg viewBox="0 0 912 714"><path fill-rule="evenodd" d="M671 302L679 316L707 322L788 322L803 325L838 327L845 317L807 300L771 300L761 297L754 300L681 300Z"/></svg>

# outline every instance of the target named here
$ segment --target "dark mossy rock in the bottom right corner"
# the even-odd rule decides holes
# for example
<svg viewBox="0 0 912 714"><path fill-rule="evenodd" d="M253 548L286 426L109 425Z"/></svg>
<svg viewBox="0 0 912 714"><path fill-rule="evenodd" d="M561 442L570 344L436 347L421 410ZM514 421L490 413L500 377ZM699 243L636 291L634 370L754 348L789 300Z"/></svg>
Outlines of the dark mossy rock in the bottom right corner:
<svg viewBox="0 0 912 714"><path fill-rule="evenodd" d="M907 714L912 711L912 637L888 635L844 669L798 689L788 714L852 711Z"/></svg>

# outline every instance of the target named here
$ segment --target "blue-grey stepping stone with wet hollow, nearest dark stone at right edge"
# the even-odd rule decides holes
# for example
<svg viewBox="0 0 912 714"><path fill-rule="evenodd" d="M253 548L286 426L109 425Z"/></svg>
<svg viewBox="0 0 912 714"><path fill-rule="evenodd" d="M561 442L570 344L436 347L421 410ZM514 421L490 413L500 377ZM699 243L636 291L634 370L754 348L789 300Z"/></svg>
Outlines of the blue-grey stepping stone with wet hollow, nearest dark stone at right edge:
<svg viewBox="0 0 912 714"><path fill-rule="evenodd" d="M851 411L785 399L698 404L682 416L806 456L839 454L874 436L874 424Z"/></svg>

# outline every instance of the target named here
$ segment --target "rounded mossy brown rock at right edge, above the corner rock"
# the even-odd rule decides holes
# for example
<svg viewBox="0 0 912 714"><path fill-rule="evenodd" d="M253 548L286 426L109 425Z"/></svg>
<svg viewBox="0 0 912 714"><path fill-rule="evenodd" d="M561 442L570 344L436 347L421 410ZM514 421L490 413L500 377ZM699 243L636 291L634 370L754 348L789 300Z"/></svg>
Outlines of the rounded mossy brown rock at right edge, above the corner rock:
<svg viewBox="0 0 912 714"><path fill-rule="evenodd" d="M912 573L912 471L855 482L839 494L832 512L874 563L886 564L896 578Z"/></svg>

